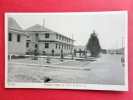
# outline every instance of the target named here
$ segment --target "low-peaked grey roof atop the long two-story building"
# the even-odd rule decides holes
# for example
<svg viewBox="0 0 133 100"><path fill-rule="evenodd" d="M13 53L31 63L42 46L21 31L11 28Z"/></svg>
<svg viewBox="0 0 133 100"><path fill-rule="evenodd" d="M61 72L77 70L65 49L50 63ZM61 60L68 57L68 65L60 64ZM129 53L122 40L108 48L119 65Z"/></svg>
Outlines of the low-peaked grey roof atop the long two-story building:
<svg viewBox="0 0 133 100"><path fill-rule="evenodd" d="M27 28L25 31L27 31L27 32L54 32L54 31L52 31L46 27L43 27L39 24L36 24L30 28Z"/></svg>

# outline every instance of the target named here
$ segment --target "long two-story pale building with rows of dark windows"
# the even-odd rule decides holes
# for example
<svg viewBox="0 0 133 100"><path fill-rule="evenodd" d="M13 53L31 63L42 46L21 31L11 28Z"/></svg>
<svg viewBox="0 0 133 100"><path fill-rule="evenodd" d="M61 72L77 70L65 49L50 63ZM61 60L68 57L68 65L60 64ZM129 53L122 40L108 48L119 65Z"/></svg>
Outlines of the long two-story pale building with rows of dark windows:
<svg viewBox="0 0 133 100"><path fill-rule="evenodd" d="M60 54L63 50L64 54L72 52L74 40L68 38L60 33L54 32L41 25L34 25L25 30L29 36L26 39L26 49L32 51L37 49L40 54L45 52L51 54L54 50L54 54Z"/></svg>

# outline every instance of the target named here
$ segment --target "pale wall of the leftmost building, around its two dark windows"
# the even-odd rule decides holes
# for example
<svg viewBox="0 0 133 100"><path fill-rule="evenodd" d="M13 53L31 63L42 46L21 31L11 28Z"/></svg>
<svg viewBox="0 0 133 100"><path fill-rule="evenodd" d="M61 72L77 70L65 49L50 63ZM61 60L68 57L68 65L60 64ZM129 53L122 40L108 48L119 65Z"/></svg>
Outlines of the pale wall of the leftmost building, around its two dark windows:
<svg viewBox="0 0 133 100"><path fill-rule="evenodd" d="M20 42L17 42L17 32L8 31L12 33L12 41L8 40L8 54L25 54L26 52L26 36L20 35Z"/></svg>

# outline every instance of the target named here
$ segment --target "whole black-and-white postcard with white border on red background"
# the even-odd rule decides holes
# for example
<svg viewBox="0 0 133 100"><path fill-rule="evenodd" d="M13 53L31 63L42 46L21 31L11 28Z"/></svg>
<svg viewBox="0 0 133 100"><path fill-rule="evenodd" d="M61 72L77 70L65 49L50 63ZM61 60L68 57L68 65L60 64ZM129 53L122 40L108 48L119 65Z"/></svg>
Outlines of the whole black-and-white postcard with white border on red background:
<svg viewBox="0 0 133 100"><path fill-rule="evenodd" d="M127 11L5 13L5 88L128 91Z"/></svg>

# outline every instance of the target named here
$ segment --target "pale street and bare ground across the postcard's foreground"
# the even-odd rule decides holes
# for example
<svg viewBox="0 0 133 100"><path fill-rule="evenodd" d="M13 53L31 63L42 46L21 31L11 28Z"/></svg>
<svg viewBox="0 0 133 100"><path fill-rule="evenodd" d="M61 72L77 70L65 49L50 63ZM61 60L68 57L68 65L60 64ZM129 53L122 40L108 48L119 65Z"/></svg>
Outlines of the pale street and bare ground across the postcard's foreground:
<svg viewBox="0 0 133 100"><path fill-rule="evenodd" d="M18 60L18 59L17 59ZM57 60L57 62L56 62ZM53 67L27 67L24 65L9 66L9 81L43 82L43 77L48 76L51 83L86 83L124 85L124 69L121 63L121 55L101 55L97 61L66 61L59 63L59 59L53 60L57 66L85 67L91 70L72 70ZM12 60L15 61L15 60ZM18 60L23 61L24 60ZM33 62L33 60L30 60ZM40 62L40 60L39 60ZM14 76L17 76L16 78ZM26 81L25 78L29 77ZM34 77L32 80L31 77ZM23 80L25 79L25 80ZM30 80L31 79L31 80ZM37 80L37 81L35 81Z"/></svg>

